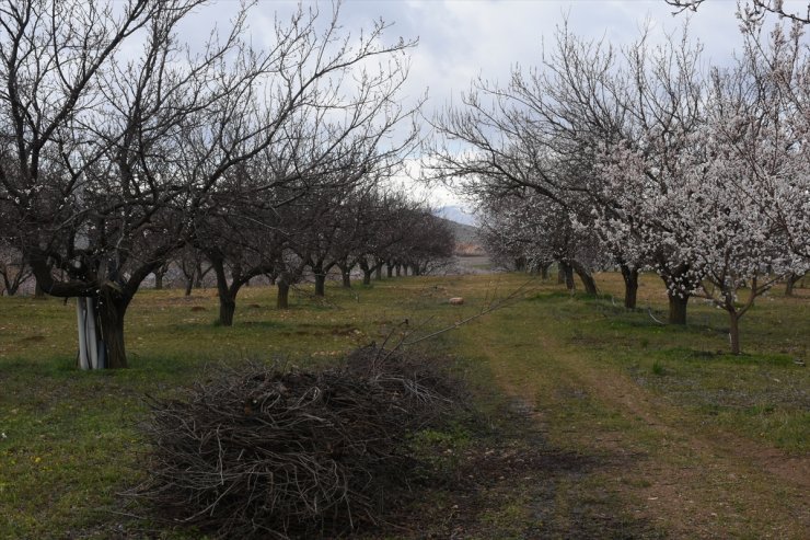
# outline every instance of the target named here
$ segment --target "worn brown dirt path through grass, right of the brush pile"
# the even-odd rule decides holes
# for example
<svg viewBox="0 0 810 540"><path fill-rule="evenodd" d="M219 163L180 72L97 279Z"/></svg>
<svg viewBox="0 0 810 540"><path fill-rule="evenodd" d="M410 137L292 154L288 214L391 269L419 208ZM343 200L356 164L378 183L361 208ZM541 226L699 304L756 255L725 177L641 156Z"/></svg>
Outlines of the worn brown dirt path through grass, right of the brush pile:
<svg viewBox="0 0 810 540"><path fill-rule="evenodd" d="M489 337L481 340L484 353L502 358L497 336ZM634 457L615 460L592 479L598 490L617 495L622 510L667 538L810 538L807 458L708 426L695 429L696 418L615 369L585 359L542 331L534 340L526 351L537 358L525 360L534 375L493 360L496 381L536 404L532 417L549 432L551 444ZM591 414L566 426L570 411Z"/></svg>

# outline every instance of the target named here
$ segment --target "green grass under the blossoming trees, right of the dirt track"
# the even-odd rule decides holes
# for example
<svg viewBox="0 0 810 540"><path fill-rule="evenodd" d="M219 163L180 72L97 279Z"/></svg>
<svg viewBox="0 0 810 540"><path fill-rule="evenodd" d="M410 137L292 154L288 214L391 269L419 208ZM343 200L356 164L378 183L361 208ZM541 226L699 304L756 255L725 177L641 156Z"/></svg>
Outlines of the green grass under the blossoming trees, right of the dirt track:
<svg viewBox="0 0 810 540"><path fill-rule="evenodd" d="M651 285L650 276L647 282ZM614 285L614 291L621 290ZM765 438L792 452L808 451L810 377L802 365L810 348L807 296L787 299L774 291L761 299L742 319L740 356L728 353L725 313L701 300L691 302L685 326L662 326L645 309L628 312L605 298L571 299L551 291L532 300L544 303L558 321L556 335L580 354L624 370L670 403L694 409L701 422ZM583 303L593 309L581 310ZM660 300L651 305L663 308ZM760 410L767 412L751 413Z"/></svg>

